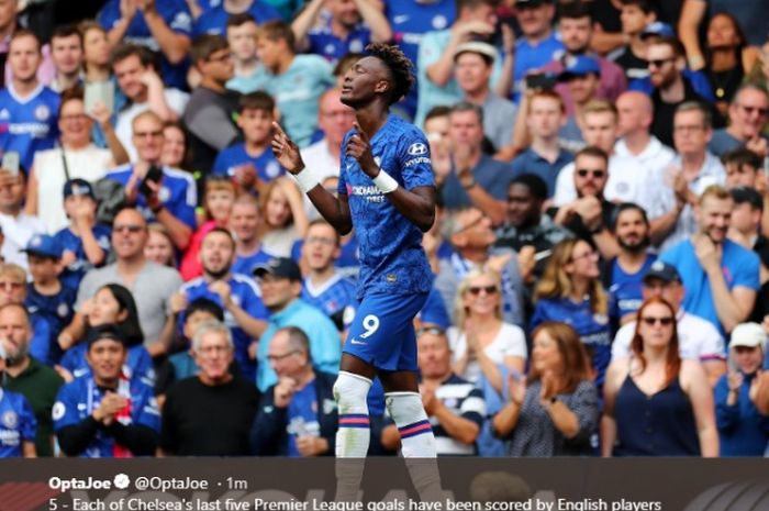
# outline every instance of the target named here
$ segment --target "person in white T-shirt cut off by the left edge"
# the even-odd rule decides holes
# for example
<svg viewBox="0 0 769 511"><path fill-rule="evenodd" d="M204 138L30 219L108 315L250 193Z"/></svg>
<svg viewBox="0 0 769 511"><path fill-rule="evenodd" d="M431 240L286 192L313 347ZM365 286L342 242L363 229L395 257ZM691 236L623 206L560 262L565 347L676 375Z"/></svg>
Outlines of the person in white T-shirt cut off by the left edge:
<svg viewBox="0 0 769 511"><path fill-rule="evenodd" d="M23 249L35 234L43 234L41 221L22 210L26 186L24 173L12 174L0 169L0 230L4 236L0 254L5 263L13 263L26 269Z"/></svg>

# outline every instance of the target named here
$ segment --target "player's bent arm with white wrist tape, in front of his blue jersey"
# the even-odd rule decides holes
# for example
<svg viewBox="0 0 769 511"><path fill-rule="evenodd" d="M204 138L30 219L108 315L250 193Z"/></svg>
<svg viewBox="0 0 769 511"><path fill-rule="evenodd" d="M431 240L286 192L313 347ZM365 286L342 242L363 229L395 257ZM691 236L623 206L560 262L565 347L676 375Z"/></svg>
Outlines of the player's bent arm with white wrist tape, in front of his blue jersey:
<svg viewBox="0 0 769 511"><path fill-rule="evenodd" d="M360 168L387 197L398 212L420 227L422 232L430 231L435 222L435 187L422 186L406 190L398 186L374 160L371 145L366 132L355 123L357 133L349 137L345 153L358 160Z"/></svg>

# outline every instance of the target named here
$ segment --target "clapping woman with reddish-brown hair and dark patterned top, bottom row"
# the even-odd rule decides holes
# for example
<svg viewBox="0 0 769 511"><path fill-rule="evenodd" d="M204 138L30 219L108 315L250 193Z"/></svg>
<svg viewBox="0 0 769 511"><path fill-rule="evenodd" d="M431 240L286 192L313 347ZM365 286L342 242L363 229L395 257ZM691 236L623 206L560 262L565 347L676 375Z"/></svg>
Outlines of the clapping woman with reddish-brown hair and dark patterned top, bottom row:
<svg viewBox="0 0 769 511"><path fill-rule="evenodd" d="M528 376L510 376L510 398L492 419L510 456L589 455L598 391L577 332L547 321L534 329Z"/></svg>

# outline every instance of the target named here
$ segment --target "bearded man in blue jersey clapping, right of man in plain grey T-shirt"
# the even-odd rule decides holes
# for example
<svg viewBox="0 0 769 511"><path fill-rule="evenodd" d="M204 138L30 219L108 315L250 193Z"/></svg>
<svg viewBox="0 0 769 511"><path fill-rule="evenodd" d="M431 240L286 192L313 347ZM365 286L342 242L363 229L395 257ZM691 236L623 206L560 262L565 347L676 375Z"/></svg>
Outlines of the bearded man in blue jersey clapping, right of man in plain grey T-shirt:
<svg viewBox="0 0 769 511"><path fill-rule="evenodd" d="M179 293L183 302L192 303L199 298L212 300L224 309L224 323L231 329L235 344L235 360L244 378L256 377L254 346L265 331L268 311L259 298L259 289L245 275L232 271L235 258L235 240L230 231L214 227L200 245L200 262L203 276L185 284ZM179 318L179 326L185 318Z"/></svg>

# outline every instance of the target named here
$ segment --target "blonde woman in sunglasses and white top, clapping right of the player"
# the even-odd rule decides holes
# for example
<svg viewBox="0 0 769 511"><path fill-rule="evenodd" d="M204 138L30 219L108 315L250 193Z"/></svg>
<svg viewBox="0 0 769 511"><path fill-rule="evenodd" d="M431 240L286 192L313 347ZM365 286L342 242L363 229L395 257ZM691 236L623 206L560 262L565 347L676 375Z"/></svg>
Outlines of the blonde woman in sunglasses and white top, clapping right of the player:
<svg viewBox="0 0 769 511"><path fill-rule="evenodd" d="M454 373L473 384L482 376L498 392L503 387L499 366L521 374L526 363L523 330L502 320L501 286L493 270L469 271L457 290L457 325L447 332Z"/></svg>

